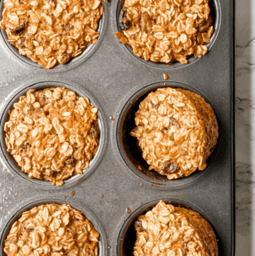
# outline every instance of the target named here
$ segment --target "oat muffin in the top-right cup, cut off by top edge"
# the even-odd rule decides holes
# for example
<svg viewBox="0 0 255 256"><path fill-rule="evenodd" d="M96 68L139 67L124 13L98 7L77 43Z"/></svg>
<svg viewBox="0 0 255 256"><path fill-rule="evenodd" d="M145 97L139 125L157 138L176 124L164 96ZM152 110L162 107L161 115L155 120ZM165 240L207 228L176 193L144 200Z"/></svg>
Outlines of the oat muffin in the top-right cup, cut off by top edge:
<svg viewBox="0 0 255 256"><path fill-rule="evenodd" d="M115 36L145 60L188 63L188 56L208 52L213 33L208 1L125 0L120 11L123 32Z"/></svg>

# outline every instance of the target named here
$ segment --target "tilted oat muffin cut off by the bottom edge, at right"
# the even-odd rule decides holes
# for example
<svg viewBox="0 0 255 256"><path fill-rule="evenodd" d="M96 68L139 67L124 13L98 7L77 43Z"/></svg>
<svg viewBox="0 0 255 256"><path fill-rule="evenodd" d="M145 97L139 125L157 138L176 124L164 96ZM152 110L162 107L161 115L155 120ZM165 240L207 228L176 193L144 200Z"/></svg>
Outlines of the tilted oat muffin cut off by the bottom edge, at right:
<svg viewBox="0 0 255 256"><path fill-rule="evenodd" d="M134 256L217 256L215 233L199 213L160 200L138 217Z"/></svg>

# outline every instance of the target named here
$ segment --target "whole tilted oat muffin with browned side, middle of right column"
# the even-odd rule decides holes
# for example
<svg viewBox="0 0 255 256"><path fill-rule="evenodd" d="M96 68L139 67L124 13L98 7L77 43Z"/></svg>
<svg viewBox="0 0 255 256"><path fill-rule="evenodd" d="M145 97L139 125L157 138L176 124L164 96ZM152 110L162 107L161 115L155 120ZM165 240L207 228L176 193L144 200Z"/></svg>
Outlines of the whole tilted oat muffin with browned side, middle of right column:
<svg viewBox="0 0 255 256"><path fill-rule="evenodd" d="M135 113L136 137L142 157L168 179L188 176L206 167L218 138L212 107L198 94L162 88L151 92Z"/></svg>

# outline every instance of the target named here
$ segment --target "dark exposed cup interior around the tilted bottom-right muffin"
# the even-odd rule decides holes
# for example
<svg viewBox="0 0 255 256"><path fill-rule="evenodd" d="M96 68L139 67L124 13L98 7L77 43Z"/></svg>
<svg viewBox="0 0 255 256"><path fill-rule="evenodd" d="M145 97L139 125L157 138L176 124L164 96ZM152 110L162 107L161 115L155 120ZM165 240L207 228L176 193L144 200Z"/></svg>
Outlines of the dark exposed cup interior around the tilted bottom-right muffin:
<svg viewBox="0 0 255 256"><path fill-rule="evenodd" d="M174 206L188 208L193 211L198 212L203 218L205 218L208 223L210 223L210 226L212 226L212 229L215 232L215 228L212 224L212 221L210 221L210 218L197 206L194 206L193 204L190 204L186 201L178 200L178 199L162 199L166 204L173 204ZM136 241L136 231L135 231L135 221L137 221L137 218L141 215L144 215L147 213L147 211L151 211L154 206L156 206L159 203L159 200L150 201L147 204L143 204L139 208L137 208L135 211L133 211L128 219L123 224L122 228L120 229L120 233L118 236L118 244L117 244L117 256L130 256L132 255L132 251L134 249L135 241ZM217 233L215 232L217 240L219 240ZM221 256L221 250L220 250L220 241L217 243L219 248L219 256Z"/></svg>

